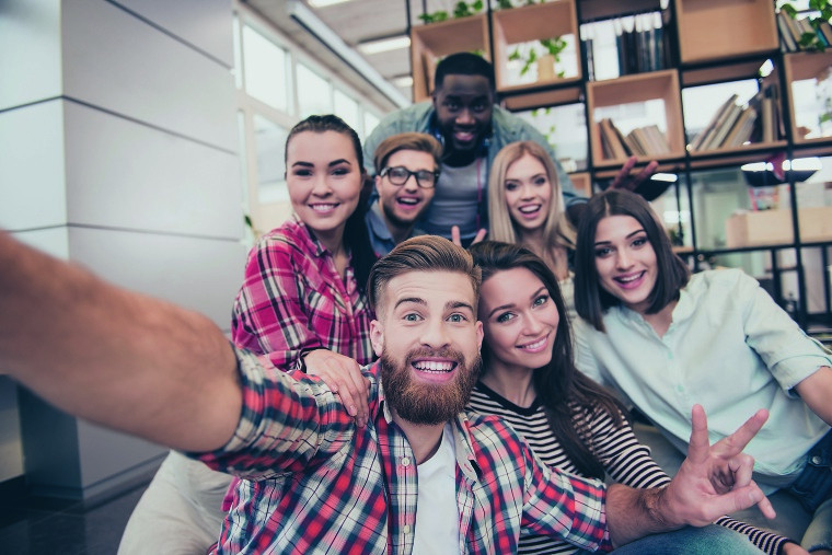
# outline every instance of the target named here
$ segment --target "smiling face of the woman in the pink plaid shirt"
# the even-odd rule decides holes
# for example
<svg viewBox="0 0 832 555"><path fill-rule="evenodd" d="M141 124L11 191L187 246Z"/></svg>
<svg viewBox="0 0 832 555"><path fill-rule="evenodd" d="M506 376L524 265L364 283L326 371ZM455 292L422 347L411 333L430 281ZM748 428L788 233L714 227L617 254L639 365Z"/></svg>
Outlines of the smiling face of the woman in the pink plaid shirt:
<svg viewBox="0 0 832 555"><path fill-rule="evenodd" d="M363 181L351 139L337 131L299 132L287 144L286 167L294 213L333 251Z"/></svg>

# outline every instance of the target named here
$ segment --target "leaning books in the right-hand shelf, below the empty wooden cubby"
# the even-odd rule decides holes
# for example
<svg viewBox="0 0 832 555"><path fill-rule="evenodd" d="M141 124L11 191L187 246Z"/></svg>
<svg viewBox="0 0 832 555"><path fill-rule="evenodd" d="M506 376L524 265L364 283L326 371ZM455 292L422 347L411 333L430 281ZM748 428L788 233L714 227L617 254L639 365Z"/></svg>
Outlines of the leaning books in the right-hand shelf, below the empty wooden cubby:
<svg viewBox="0 0 832 555"><path fill-rule="evenodd" d="M707 126L689 146L691 152L736 148L746 142L772 142L777 129L777 88L764 86L748 104L737 103L732 94L719 106Z"/></svg>

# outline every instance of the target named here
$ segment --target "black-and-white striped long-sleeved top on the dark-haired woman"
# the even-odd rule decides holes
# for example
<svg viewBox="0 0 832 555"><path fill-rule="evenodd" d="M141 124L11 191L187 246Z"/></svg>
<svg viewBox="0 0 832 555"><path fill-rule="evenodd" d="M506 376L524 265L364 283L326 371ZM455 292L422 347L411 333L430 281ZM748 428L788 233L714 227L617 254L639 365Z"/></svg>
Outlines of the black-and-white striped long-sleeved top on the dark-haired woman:
<svg viewBox="0 0 832 555"><path fill-rule="evenodd" d="M528 408L521 407L478 382L471 394L469 407L483 415L502 417L525 439L541 461L552 467L580 475L552 432L543 406L538 400ZM573 415L574 418L581 419L585 429L589 430L589 437L585 440L591 442L592 452L613 482L639 488L661 486L670 482L670 477L650 458L649 448L638 442L628 424L616 427L610 415L597 406L583 407L574 404ZM781 545L788 541L782 535L729 517L723 517L716 523L748 535L754 545L770 555L777 554ZM567 554L577 551L574 545L558 539L520 537L519 553L523 554Z"/></svg>

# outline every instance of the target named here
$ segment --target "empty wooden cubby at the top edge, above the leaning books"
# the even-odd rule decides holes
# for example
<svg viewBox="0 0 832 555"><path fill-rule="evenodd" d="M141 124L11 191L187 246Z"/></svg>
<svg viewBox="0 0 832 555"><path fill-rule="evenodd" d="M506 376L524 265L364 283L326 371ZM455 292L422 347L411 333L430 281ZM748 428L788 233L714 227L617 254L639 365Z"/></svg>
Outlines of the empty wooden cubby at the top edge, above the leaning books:
<svg viewBox="0 0 832 555"><path fill-rule="evenodd" d="M778 47L771 0L675 0L682 63L720 60Z"/></svg>

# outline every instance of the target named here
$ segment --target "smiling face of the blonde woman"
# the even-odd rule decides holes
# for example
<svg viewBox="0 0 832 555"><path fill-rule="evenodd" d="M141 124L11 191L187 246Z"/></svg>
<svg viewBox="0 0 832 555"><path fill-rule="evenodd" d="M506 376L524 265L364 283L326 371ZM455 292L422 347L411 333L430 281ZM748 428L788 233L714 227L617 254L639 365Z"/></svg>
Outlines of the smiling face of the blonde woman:
<svg viewBox="0 0 832 555"><path fill-rule="evenodd" d="M528 152L506 170L506 206L520 233L543 228L552 201L546 166Z"/></svg>

